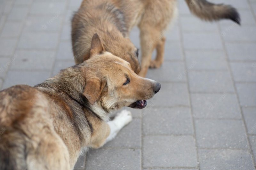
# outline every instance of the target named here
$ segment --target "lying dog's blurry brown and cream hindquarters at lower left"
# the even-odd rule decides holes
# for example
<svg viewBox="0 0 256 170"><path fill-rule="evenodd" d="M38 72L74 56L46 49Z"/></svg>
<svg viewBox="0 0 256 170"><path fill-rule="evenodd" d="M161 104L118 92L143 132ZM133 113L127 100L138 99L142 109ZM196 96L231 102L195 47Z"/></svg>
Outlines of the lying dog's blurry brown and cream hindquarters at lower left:
<svg viewBox="0 0 256 170"><path fill-rule="evenodd" d="M17 85L0 92L0 129L0 170L70 168L48 100L37 89Z"/></svg>

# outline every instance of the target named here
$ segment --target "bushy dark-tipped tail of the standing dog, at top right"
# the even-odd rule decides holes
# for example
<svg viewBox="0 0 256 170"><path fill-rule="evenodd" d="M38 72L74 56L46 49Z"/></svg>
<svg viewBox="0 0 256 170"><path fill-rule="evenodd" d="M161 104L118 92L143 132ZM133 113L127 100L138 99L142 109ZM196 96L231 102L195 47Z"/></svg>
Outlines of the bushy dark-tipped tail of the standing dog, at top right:
<svg viewBox="0 0 256 170"><path fill-rule="evenodd" d="M200 19L215 21L231 19L240 25L240 15L231 5L212 4L206 0L186 0L189 10Z"/></svg>

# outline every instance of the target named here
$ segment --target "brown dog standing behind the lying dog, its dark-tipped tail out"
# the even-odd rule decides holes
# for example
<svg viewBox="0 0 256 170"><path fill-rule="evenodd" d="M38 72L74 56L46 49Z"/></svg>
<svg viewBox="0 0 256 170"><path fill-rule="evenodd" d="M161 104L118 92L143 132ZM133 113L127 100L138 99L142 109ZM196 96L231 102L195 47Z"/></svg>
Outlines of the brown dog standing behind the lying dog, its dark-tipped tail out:
<svg viewBox="0 0 256 170"><path fill-rule="evenodd" d="M206 0L186 0L190 11L201 19L231 19L240 23L239 14L229 5ZM105 49L128 61L139 73L138 50L129 40L135 25L140 28L142 51L140 76L148 67L158 68L164 61L163 33L175 18L176 0L84 0L72 19L72 45L76 63L89 57L92 36L98 33ZM156 59L151 61L153 50Z"/></svg>

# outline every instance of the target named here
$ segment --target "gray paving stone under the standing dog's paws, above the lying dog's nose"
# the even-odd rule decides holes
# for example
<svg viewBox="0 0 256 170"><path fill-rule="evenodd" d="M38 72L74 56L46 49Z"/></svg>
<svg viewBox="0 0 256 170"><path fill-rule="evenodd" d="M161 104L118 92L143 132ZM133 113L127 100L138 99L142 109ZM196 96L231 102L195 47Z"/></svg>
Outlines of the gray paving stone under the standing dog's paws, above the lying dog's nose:
<svg viewBox="0 0 256 170"><path fill-rule="evenodd" d="M185 66L183 62L164 61L158 69L149 69L147 77L159 82L186 82ZM161 75L161 76L159 76Z"/></svg>

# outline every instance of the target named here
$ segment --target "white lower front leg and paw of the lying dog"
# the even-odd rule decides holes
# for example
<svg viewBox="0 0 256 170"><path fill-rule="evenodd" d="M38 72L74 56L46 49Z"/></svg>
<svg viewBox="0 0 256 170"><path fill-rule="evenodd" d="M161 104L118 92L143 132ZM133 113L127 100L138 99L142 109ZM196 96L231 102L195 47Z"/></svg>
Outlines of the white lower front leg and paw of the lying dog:
<svg viewBox="0 0 256 170"><path fill-rule="evenodd" d="M114 120L107 122L110 127L110 134L105 143L111 141L116 136L116 134L131 121L132 113L130 111L123 110L122 112L117 113Z"/></svg>

